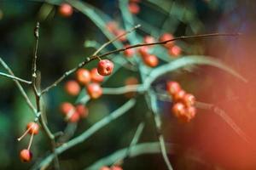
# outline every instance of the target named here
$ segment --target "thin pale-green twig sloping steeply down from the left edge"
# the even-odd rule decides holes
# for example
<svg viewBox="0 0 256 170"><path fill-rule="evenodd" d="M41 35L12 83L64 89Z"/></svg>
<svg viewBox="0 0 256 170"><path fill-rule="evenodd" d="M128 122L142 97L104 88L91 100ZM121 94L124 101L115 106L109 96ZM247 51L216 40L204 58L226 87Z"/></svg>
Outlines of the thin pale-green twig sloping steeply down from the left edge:
<svg viewBox="0 0 256 170"><path fill-rule="evenodd" d="M0 64L3 65L3 68L9 72L9 74L13 77L15 77L14 72L9 68L9 66L3 61L3 59L0 57ZM37 116L37 110L34 107L34 105L32 105L31 100L28 98L28 96L26 95L26 92L24 90L24 88L22 88L21 84L19 81L13 79L13 81L15 82L16 86L19 88L20 93L22 94L23 98L26 100L26 104L29 106L29 108L32 110L32 112Z"/></svg>

